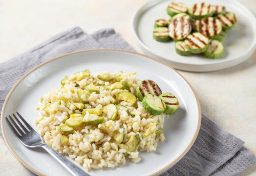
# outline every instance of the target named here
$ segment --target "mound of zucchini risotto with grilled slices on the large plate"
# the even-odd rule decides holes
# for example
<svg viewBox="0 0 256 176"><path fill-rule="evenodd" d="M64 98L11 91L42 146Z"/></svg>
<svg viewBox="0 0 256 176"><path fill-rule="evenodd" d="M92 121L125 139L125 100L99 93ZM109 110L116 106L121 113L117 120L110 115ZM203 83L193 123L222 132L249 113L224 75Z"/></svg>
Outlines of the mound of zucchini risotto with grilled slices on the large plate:
<svg viewBox="0 0 256 176"><path fill-rule="evenodd" d="M36 128L45 143L86 170L140 162L139 151L155 151L164 140L164 118L178 99L136 72L65 76L61 87L41 97Z"/></svg>

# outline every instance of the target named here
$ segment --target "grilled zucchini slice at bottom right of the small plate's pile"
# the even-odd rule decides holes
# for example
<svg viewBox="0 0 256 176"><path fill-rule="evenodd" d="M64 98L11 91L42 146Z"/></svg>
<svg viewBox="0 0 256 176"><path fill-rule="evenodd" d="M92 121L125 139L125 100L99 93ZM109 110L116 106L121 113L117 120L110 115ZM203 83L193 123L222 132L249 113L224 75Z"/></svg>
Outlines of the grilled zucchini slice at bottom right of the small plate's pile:
<svg viewBox="0 0 256 176"><path fill-rule="evenodd" d="M224 52L222 43L218 40L210 40L208 49L203 53L207 58L220 58Z"/></svg>

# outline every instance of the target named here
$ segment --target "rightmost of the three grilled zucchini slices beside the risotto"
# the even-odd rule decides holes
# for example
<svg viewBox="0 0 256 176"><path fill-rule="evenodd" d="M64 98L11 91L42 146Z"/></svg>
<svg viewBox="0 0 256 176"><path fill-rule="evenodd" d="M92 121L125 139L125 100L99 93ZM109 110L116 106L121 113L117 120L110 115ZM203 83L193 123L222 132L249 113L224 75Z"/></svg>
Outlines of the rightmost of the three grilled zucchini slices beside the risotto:
<svg viewBox="0 0 256 176"><path fill-rule="evenodd" d="M173 94L166 92L159 96L166 104L165 114L174 114L179 108L179 100Z"/></svg>

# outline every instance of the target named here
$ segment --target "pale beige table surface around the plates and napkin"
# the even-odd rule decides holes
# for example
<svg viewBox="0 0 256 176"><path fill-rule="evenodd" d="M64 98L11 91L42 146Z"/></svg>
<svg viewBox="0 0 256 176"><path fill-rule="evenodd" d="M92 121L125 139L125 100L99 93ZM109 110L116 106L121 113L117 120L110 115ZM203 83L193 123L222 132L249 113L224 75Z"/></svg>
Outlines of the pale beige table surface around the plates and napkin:
<svg viewBox="0 0 256 176"><path fill-rule="evenodd" d="M256 0L239 0L256 12ZM74 26L87 33L114 28L138 52L132 18L146 0L0 0L0 63ZM256 52L232 68L209 73L179 71L194 87L202 112L242 139L256 155ZM0 137L0 175L28 171ZM256 175L256 165L242 175Z"/></svg>

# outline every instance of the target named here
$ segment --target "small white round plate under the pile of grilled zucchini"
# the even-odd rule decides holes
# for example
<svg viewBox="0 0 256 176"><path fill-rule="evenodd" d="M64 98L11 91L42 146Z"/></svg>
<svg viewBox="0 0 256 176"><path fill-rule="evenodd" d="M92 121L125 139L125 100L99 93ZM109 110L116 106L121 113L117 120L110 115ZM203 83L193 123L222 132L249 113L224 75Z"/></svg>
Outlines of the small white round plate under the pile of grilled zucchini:
<svg viewBox="0 0 256 176"><path fill-rule="evenodd" d="M242 4L235 0L204 0L209 4L226 6L238 16L238 22L223 41L224 54L219 59L205 58L199 54L180 56L174 48L174 41L157 42L152 37L154 22L158 18L168 20L166 7L170 0L151 0L142 6L134 16L133 31L140 48L148 54L166 62L174 68L193 72L221 70L248 59L256 48L256 18ZM188 7L198 1L178 0Z"/></svg>

